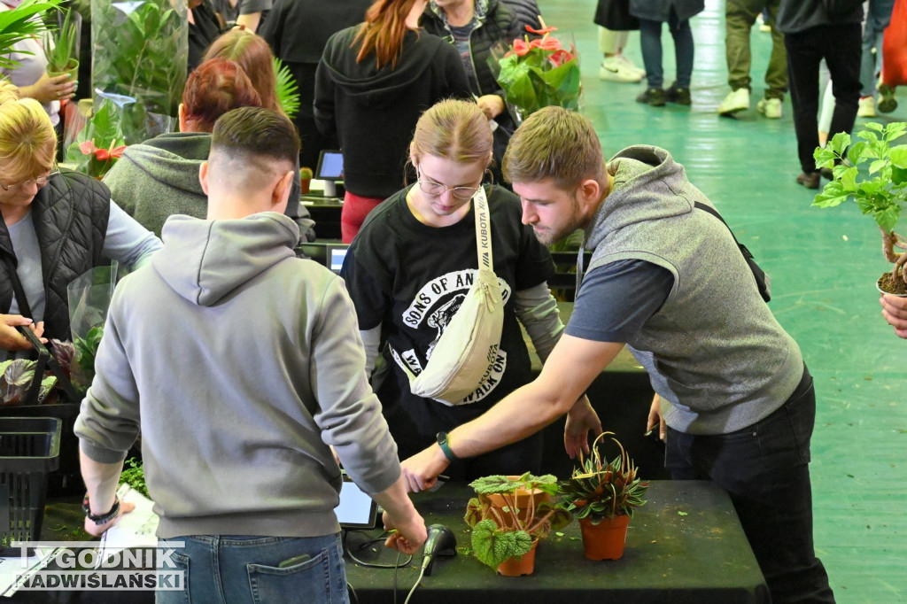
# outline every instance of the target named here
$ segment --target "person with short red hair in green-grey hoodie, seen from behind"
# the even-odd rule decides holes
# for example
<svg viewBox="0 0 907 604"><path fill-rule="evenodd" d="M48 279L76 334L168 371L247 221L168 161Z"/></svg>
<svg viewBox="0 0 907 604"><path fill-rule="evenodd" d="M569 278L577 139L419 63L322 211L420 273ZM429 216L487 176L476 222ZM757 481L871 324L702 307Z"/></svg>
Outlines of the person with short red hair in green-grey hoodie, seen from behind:
<svg viewBox="0 0 907 604"><path fill-rule="evenodd" d="M239 63L205 61L190 73L183 89L180 132L127 147L104 184L115 191L122 209L159 236L172 214L203 219L208 196L201 190L199 167L208 160L214 122L232 109L261 106L261 95ZM306 229L314 224L307 219Z"/></svg>

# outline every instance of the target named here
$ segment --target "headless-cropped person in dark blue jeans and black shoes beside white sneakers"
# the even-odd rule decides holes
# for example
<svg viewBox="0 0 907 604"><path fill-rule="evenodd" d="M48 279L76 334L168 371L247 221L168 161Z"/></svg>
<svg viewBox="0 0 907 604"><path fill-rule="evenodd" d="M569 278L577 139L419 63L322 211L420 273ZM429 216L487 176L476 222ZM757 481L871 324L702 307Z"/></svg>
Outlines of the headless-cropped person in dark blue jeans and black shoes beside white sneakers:
<svg viewBox="0 0 907 604"><path fill-rule="evenodd" d="M636 97L652 107L662 107L665 102L690 104L689 83L693 75L693 32L689 19L705 8L702 0L630 0L629 12L639 19L639 43L642 62L646 67L649 87ZM674 38L677 61L677 80L664 90L664 70L661 64L661 24L667 22Z"/></svg>

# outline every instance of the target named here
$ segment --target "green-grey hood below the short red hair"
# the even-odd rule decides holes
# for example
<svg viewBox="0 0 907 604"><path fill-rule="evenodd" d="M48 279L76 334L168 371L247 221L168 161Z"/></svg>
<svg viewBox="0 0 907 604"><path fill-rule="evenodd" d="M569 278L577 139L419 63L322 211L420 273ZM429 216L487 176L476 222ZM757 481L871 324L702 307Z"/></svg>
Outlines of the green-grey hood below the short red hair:
<svg viewBox="0 0 907 604"><path fill-rule="evenodd" d="M153 180L173 189L205 197L199 182L199 166L211 149L209 132L171 132L130 145L120 161L132 164Z"/></svg>

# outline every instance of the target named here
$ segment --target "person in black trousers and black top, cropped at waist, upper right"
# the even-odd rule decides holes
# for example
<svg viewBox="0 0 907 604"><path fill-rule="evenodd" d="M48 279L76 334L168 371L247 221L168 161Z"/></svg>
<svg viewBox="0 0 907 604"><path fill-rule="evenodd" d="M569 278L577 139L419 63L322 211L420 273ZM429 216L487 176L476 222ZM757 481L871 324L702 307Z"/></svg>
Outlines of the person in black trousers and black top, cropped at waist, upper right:
<svg viewBox="0 0 907 604"><path fill-rule="evenodd" d="M777 28L785 34L787 81L802 170L796 181L807 189L818 189L820 181L813 158L819 146L819 63L824 59L832 76L831 138L837 132L853 130L856 120L862 88L862 22L863 4L859 0L783 0L778 9Z"/></svg>

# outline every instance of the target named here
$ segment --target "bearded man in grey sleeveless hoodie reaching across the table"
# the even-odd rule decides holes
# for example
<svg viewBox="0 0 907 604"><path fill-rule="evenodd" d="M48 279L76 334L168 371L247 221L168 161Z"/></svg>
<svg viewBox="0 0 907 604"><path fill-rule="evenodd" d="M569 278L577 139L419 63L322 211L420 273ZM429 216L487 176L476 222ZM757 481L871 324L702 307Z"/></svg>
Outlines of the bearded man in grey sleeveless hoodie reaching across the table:
<svg viewBox="0 0 907 604"><path fill-rule="evenodd" d="M589 267L578 267L570 323L541 375L406 460L409 488L568 410L568 453L585 448L598 418L573 404L628 346L658 394L649 424L660 406L673 478L727 490L773 601L833 602L813 546L813 379L730 231L697 207L711 206L706 196L657 147L606 164L592 124L559 107L522 123L502 167L542 243L585 230Z"/></svg>

